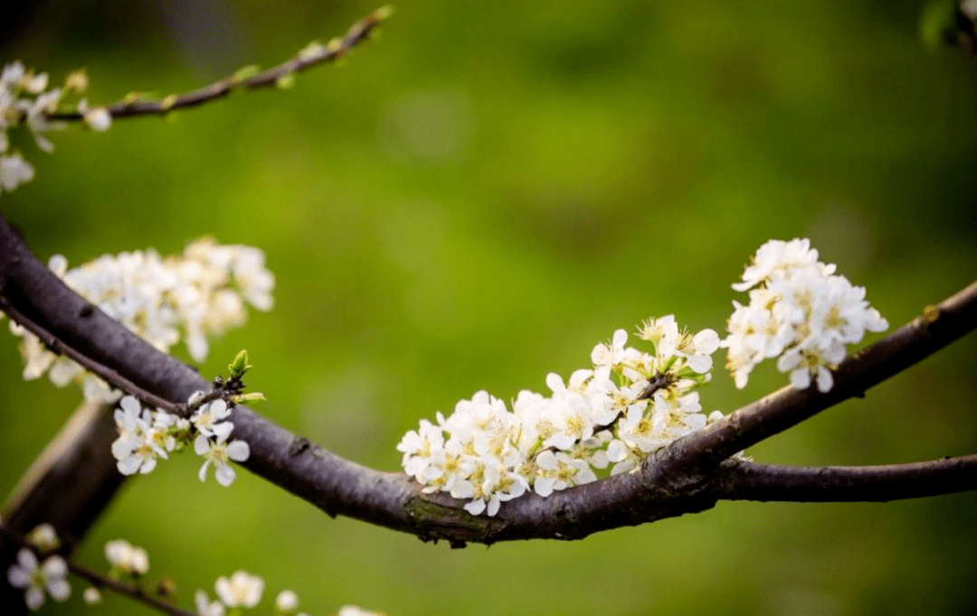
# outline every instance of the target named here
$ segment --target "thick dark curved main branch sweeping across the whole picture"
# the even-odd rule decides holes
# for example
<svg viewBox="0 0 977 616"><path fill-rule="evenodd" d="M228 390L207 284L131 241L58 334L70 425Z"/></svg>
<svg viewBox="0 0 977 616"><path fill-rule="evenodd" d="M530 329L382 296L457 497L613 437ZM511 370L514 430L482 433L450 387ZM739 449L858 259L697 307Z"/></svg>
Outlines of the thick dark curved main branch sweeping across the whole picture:
<svg viewBox="0 0 977 616"><path fill-rule="evenodd" d="M72 293L30 253L0 217L0 297L68 347L171 401L209 385L190 367ZM83 310L82 308L86 308ZM444 494L423 495L402 472L378 472L344 460L244 406L234 408L234 436L251 457L243 466L330 515L348 515L452 545L515 539L578 539L591 533L709 509L721 497L717 467L732 454L811 417L948 345L977 325L977 283L867 349L835 372L835 388L785 388L647 458L636 472L502 505L473 516Z"/></svg>

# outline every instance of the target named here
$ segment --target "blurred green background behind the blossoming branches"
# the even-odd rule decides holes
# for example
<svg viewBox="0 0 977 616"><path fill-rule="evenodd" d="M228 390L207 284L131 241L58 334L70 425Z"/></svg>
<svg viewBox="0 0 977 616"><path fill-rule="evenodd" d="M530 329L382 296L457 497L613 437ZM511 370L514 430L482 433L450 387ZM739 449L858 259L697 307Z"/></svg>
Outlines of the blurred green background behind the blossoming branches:
<svg viewBox="0 0 977 616"><path fill-rule="evenodd" d="M274 8L273 8L274 6ZM344 32L366 2L24 3L0 60L89 100L160 96ZM674 313L719 331L769 238L811 237L898 326L977 277L977 66L928 52L918 2L404 3L339 67L174 115L72 126L0 197L34 251L76 266L260 246L276 308L200 366L250 351L277 423L399 468L404 431L480 389L513 398L584 366L618 327ZM6 335L6 334L4 334ZM874 337L877 338L877 337ZM871 340L873 340L872 338ZM884 464L977 451L977 353L956 343L865 400L757 446L759 461ZM185 349L176 349L186 358ZM717 355L718 357L719 355ZM722 359L718 360L722 363ZM59 430L76 388L20 380L0 345L0 490ZM720 370L706 410L745 390ZM977 494L887 505L721 503L582 542L461 551L314 507L178 456L130 481L78 554L149 550L178 599L242 568L263 601L438 614L973 614ZM153 577L150 576L150 577ZM150 613L110 596L43 613Z"/></svg>

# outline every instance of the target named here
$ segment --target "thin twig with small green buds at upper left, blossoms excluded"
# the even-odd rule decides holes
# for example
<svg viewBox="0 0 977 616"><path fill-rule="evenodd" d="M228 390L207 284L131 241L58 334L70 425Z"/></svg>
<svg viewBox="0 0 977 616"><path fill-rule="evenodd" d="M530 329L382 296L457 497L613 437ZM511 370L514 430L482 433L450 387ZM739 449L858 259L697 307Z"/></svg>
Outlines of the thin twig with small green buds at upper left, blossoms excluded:
<svg viewBox="0 0 977 616"><path fill-rule="evenodd" d="M261 71L256 75L242 78L232 75L209 86L193 90L180 95L171 95L160 101L141 101L124 99L118 103L106 106L106 110L113 119L135 117L140 115L165 115L170 111L208 103L228 96L234 90L256 90L281 85L295 73L305 70L322 62L339 60L361 41L368 38L370 31L391 14L389 8L373 11L365 18L354 23L346 35L336 38L327 45L311 45L299 54L282 62L277 66ZM51 120L81 120L83 114L78 112L56 112L48 114Z"/></svg>

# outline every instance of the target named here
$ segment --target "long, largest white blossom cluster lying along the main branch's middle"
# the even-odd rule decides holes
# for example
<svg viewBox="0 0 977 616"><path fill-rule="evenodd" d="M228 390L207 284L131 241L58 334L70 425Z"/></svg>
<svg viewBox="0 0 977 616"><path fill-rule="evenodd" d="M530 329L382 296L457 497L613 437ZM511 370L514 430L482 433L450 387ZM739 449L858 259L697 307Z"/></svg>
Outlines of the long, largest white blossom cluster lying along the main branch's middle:
<svg viewBox="0 0 977 616"><path fill-rule="evenodd" d="M617 330L591 353L593 369L569 383L546 378L551 394L520 391L512 405L479 391L457 403L437 425L421 420L397 446L404 472L423 491L471 499L465 510L494 515L502 502L529 490L554 490L594 481L594 469L635 468L648 454L705 426L699 393L710 379L719 336L711 329L680 331L671 315L647 321L638 337L653 352L630 347ZM715 415L722 414L716 411Z"/></svg>

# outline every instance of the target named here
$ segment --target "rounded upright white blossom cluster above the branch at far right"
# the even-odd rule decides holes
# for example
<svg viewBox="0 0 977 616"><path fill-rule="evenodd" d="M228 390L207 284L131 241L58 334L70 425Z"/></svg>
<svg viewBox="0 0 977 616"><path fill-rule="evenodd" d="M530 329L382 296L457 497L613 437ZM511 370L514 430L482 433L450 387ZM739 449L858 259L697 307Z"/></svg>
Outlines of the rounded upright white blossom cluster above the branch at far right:
<svg viewBox="0 0 977 616"><path fill-rule="evenodd" d="M737 291L749 291L749 305L733 302L727 367L738 388L768 357L790 373L797 389L817 381L826 392L834 384L830 370L845 357L845 346L862 342L866 331L881 332L886 321L865 300L865 288L852 286L834 273L833 264L818 261L808 239L773 239L760 246L743 272Z"/></svg>

